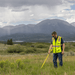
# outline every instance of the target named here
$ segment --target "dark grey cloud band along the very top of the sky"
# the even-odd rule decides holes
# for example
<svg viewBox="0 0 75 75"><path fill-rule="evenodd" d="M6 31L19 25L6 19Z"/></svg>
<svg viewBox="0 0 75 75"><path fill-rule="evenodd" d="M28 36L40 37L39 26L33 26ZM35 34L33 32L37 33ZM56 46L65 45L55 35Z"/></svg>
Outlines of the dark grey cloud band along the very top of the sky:
<svg viewBox="0 0 75 75"><path fill-rule="evenodd" d="M0 0L0 7L21 7L33 5L56 6L62 4L62 0Z"/></svg>

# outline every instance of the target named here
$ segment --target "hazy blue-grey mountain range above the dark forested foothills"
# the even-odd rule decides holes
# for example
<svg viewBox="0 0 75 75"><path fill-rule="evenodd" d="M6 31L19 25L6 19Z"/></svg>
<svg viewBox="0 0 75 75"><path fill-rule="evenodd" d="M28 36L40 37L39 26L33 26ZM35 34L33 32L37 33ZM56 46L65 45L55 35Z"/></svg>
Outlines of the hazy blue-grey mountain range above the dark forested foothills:
<svg viewBox="0 0 75 75"><path fill-rule="evenodd" d="M69 24L66 21L59 19L47 19L36 25L24 25L20 24L17 26L6 26L3 27L4 30L8 32L8 34L15 33L44 33L51 34L53 31L57 31L58 34L73 34L75 33L75 27Z"/></svg>

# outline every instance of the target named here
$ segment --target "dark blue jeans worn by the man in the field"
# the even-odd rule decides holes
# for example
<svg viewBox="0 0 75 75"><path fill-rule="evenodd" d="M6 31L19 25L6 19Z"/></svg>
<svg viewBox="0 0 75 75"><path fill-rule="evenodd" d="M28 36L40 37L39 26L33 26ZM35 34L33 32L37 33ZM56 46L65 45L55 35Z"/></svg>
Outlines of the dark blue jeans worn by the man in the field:
<svg viewBox="0 0 75 75"><path fill-rule="evenodd" d="M62 66L63 62L62 62L62 53L53 53L53 63L54 63L54 67L57 67L57 58L59 58L59 65Z"/></svg>

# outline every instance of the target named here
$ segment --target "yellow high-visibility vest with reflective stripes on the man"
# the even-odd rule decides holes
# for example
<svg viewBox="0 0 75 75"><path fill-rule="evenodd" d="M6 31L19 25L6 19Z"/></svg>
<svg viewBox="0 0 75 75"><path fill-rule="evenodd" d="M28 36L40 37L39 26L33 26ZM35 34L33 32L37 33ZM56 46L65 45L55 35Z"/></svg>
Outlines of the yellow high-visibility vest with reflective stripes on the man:
<svg viewBox="0 0 75 75"><path fill-rule="evenodd" d="M56 42L55 39L52 38L52 45L53 45L53 53L60 53L61 51L61 37L58 36Z"/></svg>

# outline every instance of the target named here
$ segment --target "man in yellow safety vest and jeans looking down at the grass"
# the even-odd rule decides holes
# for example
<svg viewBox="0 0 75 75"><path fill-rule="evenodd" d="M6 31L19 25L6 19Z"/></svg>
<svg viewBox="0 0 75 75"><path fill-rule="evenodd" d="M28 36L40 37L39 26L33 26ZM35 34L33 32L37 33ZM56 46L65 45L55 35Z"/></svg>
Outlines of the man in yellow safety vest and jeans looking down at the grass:
<svg viewBox="0 0 75 75"><path fill-rule="evenodd" d="M57 36L57 33L52 32L52 41L49 47L48 53L53 49L53 63L54 67L57 68L57 58L59 58L59 65L63 66L62 55L64 54L65 44L61 36Z"/></svg>

